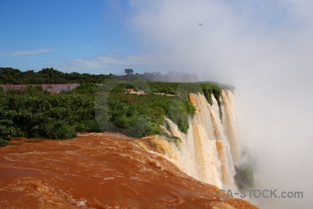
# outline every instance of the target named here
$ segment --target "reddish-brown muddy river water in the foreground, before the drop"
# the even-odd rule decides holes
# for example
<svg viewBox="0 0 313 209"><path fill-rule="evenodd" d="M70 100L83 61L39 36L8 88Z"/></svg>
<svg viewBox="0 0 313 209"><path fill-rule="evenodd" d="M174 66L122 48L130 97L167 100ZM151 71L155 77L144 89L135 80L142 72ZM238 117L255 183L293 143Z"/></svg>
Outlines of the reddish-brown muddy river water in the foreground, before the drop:
<svg viewBox="0 0 313 209"><path fill-rule="evenodd" d="M221 199L116 133L12 139L0 148L0 208L257 208Z"/></svg>

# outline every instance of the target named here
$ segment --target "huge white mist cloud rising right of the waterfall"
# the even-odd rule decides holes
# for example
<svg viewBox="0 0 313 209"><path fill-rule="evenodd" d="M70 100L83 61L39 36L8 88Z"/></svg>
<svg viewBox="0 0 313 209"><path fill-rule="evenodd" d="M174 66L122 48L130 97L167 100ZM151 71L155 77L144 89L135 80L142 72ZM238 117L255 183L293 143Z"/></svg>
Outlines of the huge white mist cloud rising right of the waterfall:
<svg viewBox="0 0 313 209"><path fill-rule="evenodd" d="M313 2L130 1L129 20L160 70L236 87L241 146L256 189L303 199L256 199L262 208L310 208L313 195Z"/></svg>

